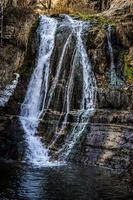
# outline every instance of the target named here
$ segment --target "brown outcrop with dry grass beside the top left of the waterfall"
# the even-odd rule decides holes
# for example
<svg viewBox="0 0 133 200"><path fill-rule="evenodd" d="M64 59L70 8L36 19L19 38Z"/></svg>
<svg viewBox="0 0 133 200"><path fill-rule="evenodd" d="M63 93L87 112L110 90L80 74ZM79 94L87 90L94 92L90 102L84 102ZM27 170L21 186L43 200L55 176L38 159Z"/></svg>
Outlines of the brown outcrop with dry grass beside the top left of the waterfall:
<svg viewBox="0 0 133 200"><path fill-rule="evenodd" d="M30 8L26 7L6 7L4 15L4 39L0 47L0 89L12 80L13 74L22 66L37 19Z"/></svg>

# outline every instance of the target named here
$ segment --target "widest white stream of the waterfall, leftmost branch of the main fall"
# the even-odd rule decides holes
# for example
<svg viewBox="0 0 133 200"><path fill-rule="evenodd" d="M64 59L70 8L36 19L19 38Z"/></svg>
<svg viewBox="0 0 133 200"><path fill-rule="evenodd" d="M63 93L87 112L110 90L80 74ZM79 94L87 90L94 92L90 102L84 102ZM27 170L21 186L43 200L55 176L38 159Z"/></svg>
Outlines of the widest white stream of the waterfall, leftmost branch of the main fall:
<svg viewBox="0 0 133 200"><path fill-rule="evenodd" d="M55 19L41 16L37 31L40 38L38 60L21 106L20 121L28 145L25 159L33 165L50 164L48 150L43 146L41 138L36 136L36 132L48 92L50 58L54 48L56 28Z"/></svg>

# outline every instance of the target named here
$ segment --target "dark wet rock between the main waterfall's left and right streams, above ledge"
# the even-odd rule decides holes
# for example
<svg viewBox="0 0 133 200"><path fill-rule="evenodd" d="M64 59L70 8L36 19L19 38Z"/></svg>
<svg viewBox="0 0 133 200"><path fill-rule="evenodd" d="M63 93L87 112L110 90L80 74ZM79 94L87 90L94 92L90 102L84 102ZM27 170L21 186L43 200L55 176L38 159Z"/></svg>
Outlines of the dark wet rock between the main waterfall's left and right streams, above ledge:
<svg viewBox="0 0 133 200"><path fill-rule="evenodd" d="M49 92L46 105L49 104L48 99L53 84L53 80L58 77L57 86L54 90L53 97L48 108L55 112L66 113L67 105L67 88L69 86L71 71L73 69L74 56L76 52L76 33L71 34L72 27L67 24L62 26L59 19L59 24L55 37L55 47L51 57L51 76L49 80ZM63 19L62 19L63 20ZM69 41L68 41L69 40ZM68 42L68 43L67 43ZM64 54L63 54L64 52ZM61 66L60 66L61 64ZM61 70L59 70L61 68ZM59 72L59 76L57 76ZM73 77L72 98L70 100L70 110L79 110L82 100L83 89L83 72L80 65L79 58L75 63L74 77ZM65 97L65 98L64 98Z"/></svg>

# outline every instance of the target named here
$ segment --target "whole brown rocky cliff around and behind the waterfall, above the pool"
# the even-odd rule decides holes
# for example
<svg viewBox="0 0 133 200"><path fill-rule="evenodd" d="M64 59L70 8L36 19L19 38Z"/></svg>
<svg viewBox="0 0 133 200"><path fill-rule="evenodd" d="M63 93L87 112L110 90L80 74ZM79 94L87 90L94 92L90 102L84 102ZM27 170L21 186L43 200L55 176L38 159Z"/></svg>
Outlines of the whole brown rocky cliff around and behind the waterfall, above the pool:
<svg viewBox="0 0 133 200"><path fill-rule="evenodd" d="M8 7L9 2L11 7ZM6 1L5 4L5 39L3 46L0 47L0 90L3 90L12 80L15 72L20 73L20 81L9 103L1 109L0 156L3 158L21 159L23 156L23 133L17 115L20 113L20 105L23 102L35 63L36 42L34 38L38 18L31 7L26 6L27 3L29 5L31 1L23 1L21 5L19 1ZM52 3L56 7L60 1ZM87 125L86 134L76 145L69 160L111 168L132 168L133 5L130 0L81 0L78 2L75 0L62 1L62 3L75 9L82 5L85 9L83 18L93 23L86 45L97 80L96 112ZM86 8L96 13L90 15ZM113 84L110 79L111 57L108 48L108 25L112 27L111 42L117 77ZM51 61L53 75L54 65L58 60L57 55L60 54L62 41L67 31L57 34L56 49L53 52L55 59ZM70 54L72 51L73 44ZM67 56L65 62L69 60L69 55ZM67 74L67 69L64 69L63 73ZM77 77L81 78L80 71L77 71ZM55 95L55 102L58 99L59 104L51 103L51 109L47 111L39 127L39 134L44 136L45 143L50 146L53 157L58 154L66 138L65 135L61 135L54 140L52 145L49 145L55 137L55 124L64 115L60 109L63 102L59 99L59 93L64 88L65 80L62 78ZM80 86L74 98L79 98L79 93ZM73 100L74 107L78 107L78 102L77 104L74 102ZM68 133L75 118L76 113L69 114Z"/></svg>

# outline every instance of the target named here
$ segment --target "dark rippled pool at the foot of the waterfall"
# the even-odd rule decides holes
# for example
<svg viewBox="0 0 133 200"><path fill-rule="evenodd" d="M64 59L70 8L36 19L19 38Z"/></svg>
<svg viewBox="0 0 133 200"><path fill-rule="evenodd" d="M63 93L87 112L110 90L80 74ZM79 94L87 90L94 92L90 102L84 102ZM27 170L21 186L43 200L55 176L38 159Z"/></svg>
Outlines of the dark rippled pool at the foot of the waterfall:
<svg viewBox="0 0 133 200"><path fill-rule="evenodd" d="M108 171L0 164L0 200L132 200L129 183Z"/></svg>

